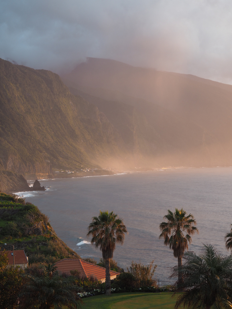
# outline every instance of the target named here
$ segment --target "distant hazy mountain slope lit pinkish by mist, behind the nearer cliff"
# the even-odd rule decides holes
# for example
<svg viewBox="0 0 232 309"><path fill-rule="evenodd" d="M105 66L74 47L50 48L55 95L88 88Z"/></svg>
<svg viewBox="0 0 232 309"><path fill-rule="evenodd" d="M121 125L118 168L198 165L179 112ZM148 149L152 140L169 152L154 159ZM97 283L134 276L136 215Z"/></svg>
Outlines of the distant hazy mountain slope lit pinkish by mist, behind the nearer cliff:
<svg viewBox="0 0 232 309"><path fill-rule="evenodd" d="M151 167L232 165L231 85L97 58L62 79L104 112L124 140L142 133L141 147L151 154L153 146Z"/></svg>

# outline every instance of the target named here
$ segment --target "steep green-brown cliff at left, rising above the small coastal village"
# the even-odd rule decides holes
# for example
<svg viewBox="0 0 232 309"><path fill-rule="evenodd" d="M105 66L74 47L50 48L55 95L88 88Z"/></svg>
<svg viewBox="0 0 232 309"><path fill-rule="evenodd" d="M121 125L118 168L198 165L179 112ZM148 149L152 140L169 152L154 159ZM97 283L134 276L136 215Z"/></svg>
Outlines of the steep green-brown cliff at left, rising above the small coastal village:
<svg viewBox="0 0 232 309"><path fill-rule="evenodd" d="M57 74L0 59L0 80L0 170L41 178L125 156L106 116L72 95Z"/></svg>

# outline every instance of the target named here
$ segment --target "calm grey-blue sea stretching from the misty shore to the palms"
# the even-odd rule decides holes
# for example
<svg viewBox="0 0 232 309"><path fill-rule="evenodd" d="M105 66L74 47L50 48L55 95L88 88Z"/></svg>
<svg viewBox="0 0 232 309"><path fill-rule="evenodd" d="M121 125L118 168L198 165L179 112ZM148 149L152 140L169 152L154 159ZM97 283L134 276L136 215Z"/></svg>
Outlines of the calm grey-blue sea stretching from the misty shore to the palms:
<svg viewBox="0 0 232 309"><path fill-rule="evenodd" d="M189 250L200 253L212 244L222 255L225 234L232 223L232 167L169 168L69 179L39 180L46 191L16 193L49 217L58 237L81 257L99 261L100 249L86 237L88 225L99 211L113 211L127 226L124 244L117 245L114 260L127 270L131 262L157 265L160 285L171 284L177 265L173 251L159 239L159 224L168 210L192 214L199 235L192 235ZM33 184L34 180L28 181Z"/></svg>

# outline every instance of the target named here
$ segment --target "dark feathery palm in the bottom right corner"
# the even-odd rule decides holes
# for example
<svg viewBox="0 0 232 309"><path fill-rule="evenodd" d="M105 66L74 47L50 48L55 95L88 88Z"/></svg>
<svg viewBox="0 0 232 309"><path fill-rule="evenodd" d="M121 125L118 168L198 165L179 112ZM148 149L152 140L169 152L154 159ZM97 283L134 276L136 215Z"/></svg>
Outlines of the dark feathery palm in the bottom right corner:
<svg viewBox="0 0 232 309"><path fill-rule="evenodd" d="M183 276L183 282L177 281L177 290L184 290L174 309L182 305L189 309L232 307L232 255L221 256L212 245L204 245L203 249L199 256L186 252L182 268L173 268L171 277L177 277L179 272Z"/></svg>

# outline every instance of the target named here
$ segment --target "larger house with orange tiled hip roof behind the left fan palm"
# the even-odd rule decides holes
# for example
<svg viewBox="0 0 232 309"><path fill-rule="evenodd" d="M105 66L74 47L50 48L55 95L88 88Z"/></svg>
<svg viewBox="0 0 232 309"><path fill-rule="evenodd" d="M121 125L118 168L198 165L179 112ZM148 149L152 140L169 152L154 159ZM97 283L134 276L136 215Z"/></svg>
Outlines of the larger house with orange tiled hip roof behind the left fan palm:
<svg viewBox="0 0 232 309"><path fill-rule="evenodd" d="M77 270L80 277L93 277L102 283L105 282L105 268L86 262L84 260L63 259L55 263L57 270L61 273L70 275L70 270ZM119 273L110 270L110 279L113 280Z"/></svg>

